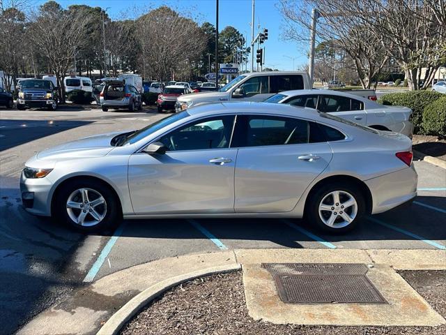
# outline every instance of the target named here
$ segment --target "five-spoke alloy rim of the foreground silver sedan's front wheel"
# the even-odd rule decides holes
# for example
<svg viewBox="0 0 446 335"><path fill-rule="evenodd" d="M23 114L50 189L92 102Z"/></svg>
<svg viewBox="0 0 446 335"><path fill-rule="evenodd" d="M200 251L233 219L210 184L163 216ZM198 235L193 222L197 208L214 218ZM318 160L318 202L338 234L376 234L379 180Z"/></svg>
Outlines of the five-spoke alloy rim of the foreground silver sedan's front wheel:
<svg viewBox="0 0 446 335"><path fill-rule="evenodd" d="M72 192L66 202L68 216L77 225L98 225L107 214L105 198L92 188L79 188Z"/></svg>

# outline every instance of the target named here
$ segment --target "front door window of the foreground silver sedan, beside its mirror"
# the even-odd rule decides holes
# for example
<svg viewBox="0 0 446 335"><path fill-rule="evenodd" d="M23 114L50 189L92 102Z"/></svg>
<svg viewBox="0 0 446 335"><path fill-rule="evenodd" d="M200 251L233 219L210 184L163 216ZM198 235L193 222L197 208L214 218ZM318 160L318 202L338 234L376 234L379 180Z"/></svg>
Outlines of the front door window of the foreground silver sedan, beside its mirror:
<svg viewBox="0 0 446 335"><path fill-rule="evenodd" d="M212 117L193 121L160 138L168 151L229 147L234 117Z"/></svg>

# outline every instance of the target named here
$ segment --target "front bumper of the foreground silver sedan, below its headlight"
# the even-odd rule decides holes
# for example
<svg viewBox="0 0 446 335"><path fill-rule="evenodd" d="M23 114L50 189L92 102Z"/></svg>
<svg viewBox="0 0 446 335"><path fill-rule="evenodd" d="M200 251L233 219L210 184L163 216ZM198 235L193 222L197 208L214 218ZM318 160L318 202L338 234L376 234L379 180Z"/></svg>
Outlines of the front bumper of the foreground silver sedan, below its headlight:
<svg viewBox="0 0 446 335"><path fill-rule="evenodd" d="M52 182L45 178L31 179L20 176L20 193L22 204L26 211L40 216L51 215Z"/></svg>

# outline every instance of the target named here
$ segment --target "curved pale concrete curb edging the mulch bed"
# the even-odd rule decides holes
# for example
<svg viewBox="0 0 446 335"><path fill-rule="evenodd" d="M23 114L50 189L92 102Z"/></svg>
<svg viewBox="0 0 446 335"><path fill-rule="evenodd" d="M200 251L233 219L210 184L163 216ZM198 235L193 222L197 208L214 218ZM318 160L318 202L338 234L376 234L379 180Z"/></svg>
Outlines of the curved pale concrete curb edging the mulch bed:
<svg viewBox="0 0 446 335"><path fill-rule="evenodd" d="M210 267L208 269L201 269L199 271L190 272L189 274L183 274L175 276L165 281L161 281L150 288L147 288L143 292L136 295L127 304L122 306L107 322L101 327L97 335L114 335L118 334L125 322L128 322L141 308L144 308L151 300L155 299L162 293L166 292L170 288L176 285L185 283L186 281L192 281L195 278L202 276L209 276L210 274L220 274L228 271L235 271L241 269L240 264L236 265L223 265L220 267Z"/></svg>

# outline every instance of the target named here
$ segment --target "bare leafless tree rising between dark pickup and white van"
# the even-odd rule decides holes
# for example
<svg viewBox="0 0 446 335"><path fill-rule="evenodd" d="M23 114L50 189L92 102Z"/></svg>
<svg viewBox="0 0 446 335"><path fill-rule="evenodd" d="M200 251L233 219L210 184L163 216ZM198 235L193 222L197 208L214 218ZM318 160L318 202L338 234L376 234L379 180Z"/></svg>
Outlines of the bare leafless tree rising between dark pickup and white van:
<svg viewBox="0 0 446 335"><path fill-rule="evenodd" d="M31 13L30 38L45 57L49 70L56 75L61 103L65 102L63 76L72 67L77 50L84 47L90 22L89 15L63 10L54 1Z"/></svg>

